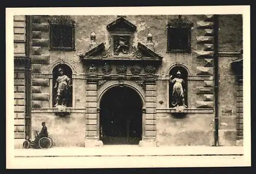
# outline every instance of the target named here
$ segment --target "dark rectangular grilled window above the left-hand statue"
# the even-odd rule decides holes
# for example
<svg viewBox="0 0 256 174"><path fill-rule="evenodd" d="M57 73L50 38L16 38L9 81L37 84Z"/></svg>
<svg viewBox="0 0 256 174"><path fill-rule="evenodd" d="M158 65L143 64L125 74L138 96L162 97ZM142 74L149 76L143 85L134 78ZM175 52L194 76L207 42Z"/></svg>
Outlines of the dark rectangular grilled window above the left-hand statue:
<svg viewBox="0 0 256 174"><path fill-rule="evenodd" d="M50 49L75 50L73 24L50 24Z"/></svg>

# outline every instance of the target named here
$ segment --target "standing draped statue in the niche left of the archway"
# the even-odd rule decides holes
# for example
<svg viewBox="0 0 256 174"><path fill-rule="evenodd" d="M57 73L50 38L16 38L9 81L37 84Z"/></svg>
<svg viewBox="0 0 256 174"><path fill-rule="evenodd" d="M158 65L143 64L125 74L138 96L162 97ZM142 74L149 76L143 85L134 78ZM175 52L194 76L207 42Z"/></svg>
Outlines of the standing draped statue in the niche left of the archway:
<svg viewBox="0 0 256 174"><path fill-rule="evenodd" d="M66 101L68 100L68 94L71 84L71 79L64 74L64 71L62 68L58 69L59 76L56 79L56 84L54 86L54 89L57 88L57 96L56 96L56 104L55 107L58 105L65 106Z"/></svg>

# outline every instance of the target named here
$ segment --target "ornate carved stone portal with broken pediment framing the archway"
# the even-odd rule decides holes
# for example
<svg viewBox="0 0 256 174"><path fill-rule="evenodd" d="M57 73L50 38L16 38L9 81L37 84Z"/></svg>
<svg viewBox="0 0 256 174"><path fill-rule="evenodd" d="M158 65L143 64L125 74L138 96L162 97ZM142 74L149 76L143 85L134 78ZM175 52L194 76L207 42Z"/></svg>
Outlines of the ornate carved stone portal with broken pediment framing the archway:
<svg viewBox="0 0 256 174"><path fill-rule="evenodd" d="M103 89L108 90L111 87L128 86L140 91L140 95L146 97L156 91L155 76L158 67L161 64L162 56L155 53L152 48L148 48L142 43L132 46L133 35L136 26L123 17L107 26L110 32L110 46L105 48L102 42L91 48L87 53L81 54L80 60L84 66L88 66L86 74L87 94L90 95L87 100L87 125L86 146L101 146L100 141L100 99L98 98ZM144 70L143 70L144 69ZM95 92L97 91L97 92ZM146 92L151 91L151 92ZM145 106L154 106L153 108L142 108L144 121L155 118L154 99L156 96L145 101ZM94 125L90 126L91 124ZM142 139L140 146L154 145L156 139L155 131L148 131L142 125ZM156 144L155 144L156 145Z"/></svg>

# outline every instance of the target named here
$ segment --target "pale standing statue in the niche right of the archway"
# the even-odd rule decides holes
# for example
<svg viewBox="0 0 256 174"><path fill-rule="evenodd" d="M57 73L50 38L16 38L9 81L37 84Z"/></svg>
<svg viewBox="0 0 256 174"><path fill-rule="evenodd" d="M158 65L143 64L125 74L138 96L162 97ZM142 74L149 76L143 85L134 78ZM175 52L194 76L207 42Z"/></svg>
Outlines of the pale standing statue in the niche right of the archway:
<svg viewBox="0 0 256 174"><path fill-rule="evenodd" d="M173 93L172 93L172 106L179 107L185 105L185 82L183 79L180 78L181 72L177 72L177 77L172 79L173 76L170 76L170 83L173 84Z"/></svg>

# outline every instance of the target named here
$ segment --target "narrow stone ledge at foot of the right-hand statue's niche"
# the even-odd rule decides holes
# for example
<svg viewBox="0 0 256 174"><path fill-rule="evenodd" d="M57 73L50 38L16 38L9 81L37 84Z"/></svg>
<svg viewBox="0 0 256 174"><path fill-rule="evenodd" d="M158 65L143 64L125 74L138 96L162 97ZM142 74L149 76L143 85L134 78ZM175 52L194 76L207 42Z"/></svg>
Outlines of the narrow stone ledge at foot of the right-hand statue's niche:
<svg viewBox="0 0 256 174"><path fill-rule="evenodd" d="M176 113L175 108L156 109L156 113ZM214 109L184 108L184 113L214 113Z"/></svg>

